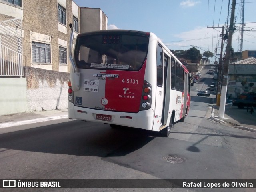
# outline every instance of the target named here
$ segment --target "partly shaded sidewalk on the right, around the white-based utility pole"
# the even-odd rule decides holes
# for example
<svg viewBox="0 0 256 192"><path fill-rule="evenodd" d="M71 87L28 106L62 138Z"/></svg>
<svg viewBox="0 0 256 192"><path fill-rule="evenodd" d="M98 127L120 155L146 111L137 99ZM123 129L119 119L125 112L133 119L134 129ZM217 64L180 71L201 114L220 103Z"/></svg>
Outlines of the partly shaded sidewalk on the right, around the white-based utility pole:
<svg viewBox="0 0 256 192"><path fill-rule="evenodd" d="M219 123L230 124L235 128L256 132L256 111L251 114L250 109L247 112L247 108L238 109L237 106L232 106L232 103L230 103L225 106L224 118L218 118L218 115L219 107L214 103L210 119Z"/></svg>

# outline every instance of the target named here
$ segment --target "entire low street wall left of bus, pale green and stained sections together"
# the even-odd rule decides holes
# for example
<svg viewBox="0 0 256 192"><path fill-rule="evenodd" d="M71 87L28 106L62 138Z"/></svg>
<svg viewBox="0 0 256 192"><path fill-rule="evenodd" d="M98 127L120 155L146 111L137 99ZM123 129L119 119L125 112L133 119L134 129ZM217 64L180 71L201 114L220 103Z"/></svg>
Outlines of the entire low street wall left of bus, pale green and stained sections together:
<svg viewBox="0 0 256 192"><path fill-rule="evenodd" d="M68 108L69 73L24 67L23 78L0 78L0 115Z"/></svg>

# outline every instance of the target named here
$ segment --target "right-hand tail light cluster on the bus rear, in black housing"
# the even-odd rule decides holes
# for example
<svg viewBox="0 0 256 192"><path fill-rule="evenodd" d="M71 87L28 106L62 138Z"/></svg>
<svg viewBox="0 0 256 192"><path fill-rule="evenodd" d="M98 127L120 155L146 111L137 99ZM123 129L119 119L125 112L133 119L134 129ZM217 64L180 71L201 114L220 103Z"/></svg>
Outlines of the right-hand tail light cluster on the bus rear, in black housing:
<svg viewBox="0 0 256 192"><path fill-rule="evenodd" d="M144 80L143 92L140 100L140 111L148 110L151 107L152 86Z"/></svg>

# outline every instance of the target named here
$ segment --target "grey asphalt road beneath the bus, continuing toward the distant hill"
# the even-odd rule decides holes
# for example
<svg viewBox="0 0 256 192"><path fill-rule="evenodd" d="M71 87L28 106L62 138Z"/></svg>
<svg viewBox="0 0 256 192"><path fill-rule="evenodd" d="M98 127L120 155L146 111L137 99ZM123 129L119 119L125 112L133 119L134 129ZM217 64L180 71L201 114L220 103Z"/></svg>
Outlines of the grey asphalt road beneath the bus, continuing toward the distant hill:
<svg viewBox="0 0 256 192"><path fill-rule="evenodd" d="M211 78L201 72L201 80ZM212 98L196 96L168 138L157 132L79 120L0 130L1 179L254 179L256 133L209 119ZM194 96L193 96L194 95ZM170 158L171 157L171 158ZM177 160L171 163L168 160ZM108 188L54 191L254 191L254 189ZM5 191L35 191L8 189ZM53 189L36 189L53 191Z"/></svg>

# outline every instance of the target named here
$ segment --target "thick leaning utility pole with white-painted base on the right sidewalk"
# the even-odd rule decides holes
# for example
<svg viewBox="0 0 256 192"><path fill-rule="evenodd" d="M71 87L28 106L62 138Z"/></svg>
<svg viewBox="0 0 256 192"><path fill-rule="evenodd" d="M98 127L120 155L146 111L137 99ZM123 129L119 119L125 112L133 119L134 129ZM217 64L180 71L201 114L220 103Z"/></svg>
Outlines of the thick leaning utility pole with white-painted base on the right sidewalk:
<svg viewBox="0 0 256 192"><path fill-rule="evenodd" d="M228 32L228 43L226 46L226 55L224 61L224 70L223 70L223 81L222 81L222 89L221 89L221 96L220 96L220 110L219 110L219 118L224 118L225 114L225 105L226 105L226 96L227 96L227 89L228 89L228 68L230 63L230 53L232 50L232 36L234 33L234 14L236 8L236 0L232 0L232 9L231 9L231 16L230 16L230 25L229 25L229 32Z"/></svg>

